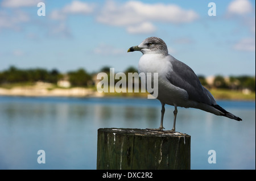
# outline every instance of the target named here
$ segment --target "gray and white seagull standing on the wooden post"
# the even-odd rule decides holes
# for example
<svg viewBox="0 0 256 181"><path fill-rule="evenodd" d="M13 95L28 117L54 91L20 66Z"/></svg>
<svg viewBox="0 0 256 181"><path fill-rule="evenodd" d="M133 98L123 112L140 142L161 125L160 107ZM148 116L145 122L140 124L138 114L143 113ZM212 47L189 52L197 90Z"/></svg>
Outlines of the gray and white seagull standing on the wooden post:
<svg viewBox="0 0 256 181"><path fill-rule="evenodd" d="M158 96L162 104L160 127L153 129L163 131L165 104L174 106L174 124L170 132L175 132L177 107L197 108L242 121L240 117L220 107L213 95L201 85L199 78L188 65L177 60L170 54L166 43L159 37L148 37L138 46L131 47L127 52L140 51L138 73L158 73ZM143 83L143 82L142 82ZM145 82L144 82L145 83Z"/></svg>

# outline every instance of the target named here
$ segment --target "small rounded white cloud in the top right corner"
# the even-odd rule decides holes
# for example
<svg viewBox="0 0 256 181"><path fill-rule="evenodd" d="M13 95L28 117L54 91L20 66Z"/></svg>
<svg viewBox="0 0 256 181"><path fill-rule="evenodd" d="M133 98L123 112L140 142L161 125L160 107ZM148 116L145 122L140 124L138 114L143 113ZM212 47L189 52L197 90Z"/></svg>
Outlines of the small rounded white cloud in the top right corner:
<svg viewBox="0 0 256 181"><path fill-rule="evenodd" d="M248 0L234 0L228 6L229 15L245 15L253 10L253 6Z"/></svg>

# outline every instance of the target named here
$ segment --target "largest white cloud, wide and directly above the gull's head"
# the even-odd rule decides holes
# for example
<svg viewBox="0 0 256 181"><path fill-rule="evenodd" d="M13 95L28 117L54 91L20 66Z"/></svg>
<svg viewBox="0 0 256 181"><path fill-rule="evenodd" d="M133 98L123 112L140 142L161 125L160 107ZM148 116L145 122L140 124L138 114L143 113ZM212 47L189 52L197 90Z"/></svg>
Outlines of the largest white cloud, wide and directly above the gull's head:
<svg viewBox="0 0 256 181"><path fill-rule="evenodd" d="M115 1L107 1L96 20L112 26L123 26L127 28L127 31L135 32L135 29L142 30L143 26L153 28L152 22L180 24L193 22L198 18L199 15L195 11L184 10L177 5L162 3L151 5L139 1L120 4ZM144 30L147 32L146 28Z"/></svg>

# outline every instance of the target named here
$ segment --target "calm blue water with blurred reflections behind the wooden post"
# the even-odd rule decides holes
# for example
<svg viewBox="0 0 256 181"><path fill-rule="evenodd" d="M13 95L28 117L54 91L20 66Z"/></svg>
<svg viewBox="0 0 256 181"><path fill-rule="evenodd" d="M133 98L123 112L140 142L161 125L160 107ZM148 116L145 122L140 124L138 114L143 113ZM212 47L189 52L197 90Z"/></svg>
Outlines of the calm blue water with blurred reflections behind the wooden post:
<svg viewBox="0 0 256 181"><path fill-rule="evenodd" d="M255 102L218 104L243 121L178 108L176 131L191 135L191 169L255 169ZM160 108L152 99L0 96L0 169L96 169L98 128L158 128ZM173 111L166 106L167 129Z"/></svg>

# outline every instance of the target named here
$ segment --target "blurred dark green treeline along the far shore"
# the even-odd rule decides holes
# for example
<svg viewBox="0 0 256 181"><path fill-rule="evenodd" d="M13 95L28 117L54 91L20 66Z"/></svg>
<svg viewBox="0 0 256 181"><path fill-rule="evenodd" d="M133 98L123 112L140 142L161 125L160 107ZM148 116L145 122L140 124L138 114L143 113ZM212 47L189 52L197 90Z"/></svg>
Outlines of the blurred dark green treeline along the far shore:
<svg viewBox="0 0 256 181"><path fill-rule="evenodd" d="M110 68L105 66L98 72L105 72L109 75L109 71ZM129 72L137 72L137 69L130 67L124 71L126 75ZM88 71L84 69L69 71L68 73L63 74L57 69L18 69L15 66L10 66L9 69L0 71L0 85L37 81L57 84L58 81L65 79L69 81L72 86L88 86L94 85L95 75L97 75L97 73L88 73ZM217 75L210 84L203 75L199 75L199 79L202 85L208 88L232 90L249 89L255 91L255 77L247 75L230 76L228 78L225 78L222 75ZM118 80L115 80L115 82L118 82Z"/></svg>

